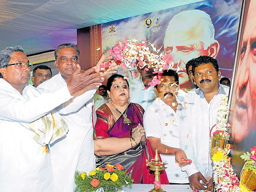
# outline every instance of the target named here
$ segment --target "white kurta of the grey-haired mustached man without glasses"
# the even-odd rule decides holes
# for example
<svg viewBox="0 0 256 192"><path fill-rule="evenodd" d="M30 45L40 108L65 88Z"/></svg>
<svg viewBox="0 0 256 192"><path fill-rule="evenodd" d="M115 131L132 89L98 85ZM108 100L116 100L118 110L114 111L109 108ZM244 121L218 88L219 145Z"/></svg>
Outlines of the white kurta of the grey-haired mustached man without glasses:
<svg viewBox="0 0 256 192"><path fill-rule="evenodd" d="M38 88L49 91L66 86L60 74L41 83ZM88 91L64 103L55 110L66 121L69 132L66 137L51 144L54 192L73 191L76 170L87 174L95 168L92 105L96 90Z"/></svg>

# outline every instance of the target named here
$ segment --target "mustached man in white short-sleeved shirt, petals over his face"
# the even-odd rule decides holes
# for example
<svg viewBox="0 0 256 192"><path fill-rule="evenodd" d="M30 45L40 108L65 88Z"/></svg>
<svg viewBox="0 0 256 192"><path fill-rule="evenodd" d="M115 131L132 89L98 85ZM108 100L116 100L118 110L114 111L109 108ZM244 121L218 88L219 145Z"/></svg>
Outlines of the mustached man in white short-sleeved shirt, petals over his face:
<svg viewBox="0 0 256 192"><path fill-rule="evenodd" d="M161 74L161 83L154 88L157 99L147 107L143 123L152 150L158 149L162 161L168 163L166 174L169 183L188 183L185 172L176 164L176 158L187 163L186 154L180 150L179 131L182 103L179 99L179 77L173 70ZM181 91L181 90L180 90ZM176 97L178 99L176 99Z"/></svg>

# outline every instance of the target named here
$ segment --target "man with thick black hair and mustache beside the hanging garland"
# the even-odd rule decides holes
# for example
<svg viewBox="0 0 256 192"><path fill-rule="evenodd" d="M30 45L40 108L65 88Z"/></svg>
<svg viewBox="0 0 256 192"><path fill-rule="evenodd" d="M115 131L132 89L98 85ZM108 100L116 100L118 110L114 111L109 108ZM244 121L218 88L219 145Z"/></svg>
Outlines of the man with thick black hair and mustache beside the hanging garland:
<svg viewBox="0 0 256 192"><path fill-rule="evenodd" d="M228 95L229 88L219 83L221 73L216 59L200 56L188 61L192 66L194 83L199 89L187 95L187 104L182 112L180 146L192 160L183 168L189 177L190 187L205 190L200 183L213 190L212 161L210 156L210 130L216 124L218 106ZM206 180L207 179L207 180Z"/></svg>

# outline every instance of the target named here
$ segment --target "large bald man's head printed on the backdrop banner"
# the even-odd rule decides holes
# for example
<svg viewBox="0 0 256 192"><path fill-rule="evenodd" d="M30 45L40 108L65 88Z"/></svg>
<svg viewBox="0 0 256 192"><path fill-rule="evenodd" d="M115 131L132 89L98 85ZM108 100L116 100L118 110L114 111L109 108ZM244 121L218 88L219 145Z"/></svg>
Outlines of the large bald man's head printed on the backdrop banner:
<svg viewBox="0 0 256 192"><path fill-rule="evenodd" d="M200 55L217 57L220 46L214 37L214 25L204 11L182 11L170 20L165 31L164 52L173 56L175 68L180 69L178 74L182 89L194 88L185 70L187 61Z"/></svg>

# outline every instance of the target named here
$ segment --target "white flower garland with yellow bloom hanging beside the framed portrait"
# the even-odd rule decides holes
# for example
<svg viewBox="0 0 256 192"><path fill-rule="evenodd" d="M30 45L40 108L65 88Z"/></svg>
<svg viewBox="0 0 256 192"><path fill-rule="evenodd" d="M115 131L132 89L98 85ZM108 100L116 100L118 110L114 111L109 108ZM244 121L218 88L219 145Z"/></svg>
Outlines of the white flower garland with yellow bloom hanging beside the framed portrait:
<svg viewBox="0 0 256 192"><path fill-rule="evenodd" d="M229 124L227 123L229 113L227 100L227 96L223 97L219 104L217 124L215 125L217 131L212 134L212 139L214 136L221 136L229 140L230 134L227 132L229 128ZM212 163L214 164L214 182L218 192L240 191L239 179L234 173L230 163L231 158L227 157L229 148L230 145L227 144L224 149L219 149L214 155L212 155Z"/></svg>

